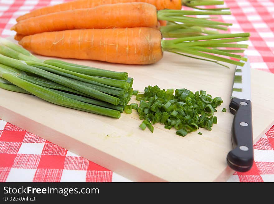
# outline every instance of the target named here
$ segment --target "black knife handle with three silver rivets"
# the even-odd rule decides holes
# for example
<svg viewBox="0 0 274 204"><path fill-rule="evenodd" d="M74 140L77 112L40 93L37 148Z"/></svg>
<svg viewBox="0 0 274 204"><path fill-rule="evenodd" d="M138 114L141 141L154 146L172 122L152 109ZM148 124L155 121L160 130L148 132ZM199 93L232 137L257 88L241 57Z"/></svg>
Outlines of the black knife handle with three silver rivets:
<svg viewBox="0 0 274 204"><path fill-rule="evenodd" d="M251 101L231 99L229 110L234 114L231 129L233 150L227 157L227 164L236 171L245 172L253 165L253 133Z"/></svg>

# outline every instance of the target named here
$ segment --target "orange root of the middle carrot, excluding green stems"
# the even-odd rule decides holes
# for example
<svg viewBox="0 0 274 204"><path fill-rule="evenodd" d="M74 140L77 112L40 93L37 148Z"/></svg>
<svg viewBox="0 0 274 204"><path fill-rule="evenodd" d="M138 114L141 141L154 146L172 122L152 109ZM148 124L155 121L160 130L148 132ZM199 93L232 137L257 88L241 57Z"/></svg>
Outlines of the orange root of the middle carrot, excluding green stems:
<svg viewBox="0 0 274 204"><path fill-rule="evenodd" d="M155 6L133 2L37 16L19 21L12 30L18 34L32 35L72 29L156 27L157 23Z"/></svg>

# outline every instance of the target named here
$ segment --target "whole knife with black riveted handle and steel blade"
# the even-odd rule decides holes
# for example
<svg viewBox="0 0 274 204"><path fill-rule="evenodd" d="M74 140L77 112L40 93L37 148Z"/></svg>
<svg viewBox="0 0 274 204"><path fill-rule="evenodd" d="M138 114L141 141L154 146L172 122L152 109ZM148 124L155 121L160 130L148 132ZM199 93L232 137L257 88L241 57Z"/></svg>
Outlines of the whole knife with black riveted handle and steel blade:
<svg viewBox="0 0 274 204"><path fill-rule="evenodd" d="M247 58L247 56L244 57ZM230 168L240 172L250 170L253 165L250 72L249 60L243 67L236 67L229 104L229 110L234 114L231 129L231 141L234 149L228 153L226 160Z"/></svg>

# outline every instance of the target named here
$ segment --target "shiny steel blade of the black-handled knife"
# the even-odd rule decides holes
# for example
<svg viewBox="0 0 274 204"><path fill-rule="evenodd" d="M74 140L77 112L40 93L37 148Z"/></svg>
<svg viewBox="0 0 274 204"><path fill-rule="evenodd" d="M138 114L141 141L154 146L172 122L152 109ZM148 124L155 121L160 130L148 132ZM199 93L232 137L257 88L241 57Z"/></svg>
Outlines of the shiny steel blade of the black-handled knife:
<svg viewBox="0 0 274 204"><path fill-rule="evenodd" d="M247 56L244 57L248 58ZM237 66L235 69L231 98L251 100L251 70L249 59L244 63L244 66Z"/></svg>

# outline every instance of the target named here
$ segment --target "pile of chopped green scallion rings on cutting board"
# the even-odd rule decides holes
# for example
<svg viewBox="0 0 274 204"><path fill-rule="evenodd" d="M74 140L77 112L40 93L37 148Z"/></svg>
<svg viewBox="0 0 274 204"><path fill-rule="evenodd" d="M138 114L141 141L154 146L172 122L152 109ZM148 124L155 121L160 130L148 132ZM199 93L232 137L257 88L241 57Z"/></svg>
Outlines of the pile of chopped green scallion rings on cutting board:
<svg viewBox="0 0 274 204"><path fill-rule="evenodd" d="M217 117L213 116L216 107L223 102L222 98L207 94L206 91L193 93L185 88L161 90L158 86L149 86L144 89L144 94L137 94L137 103L125 106L125 113L131 113L132 109L137 110L141 129L146 127L153 133L153 124L161 123L166 129L174 127L176 134L186 136L187 133L196 131L199 128L211 130L213 124L217 124ZM202 134L202 133L198 133Z"/></svg>

